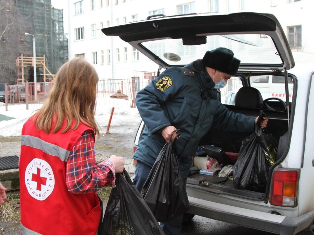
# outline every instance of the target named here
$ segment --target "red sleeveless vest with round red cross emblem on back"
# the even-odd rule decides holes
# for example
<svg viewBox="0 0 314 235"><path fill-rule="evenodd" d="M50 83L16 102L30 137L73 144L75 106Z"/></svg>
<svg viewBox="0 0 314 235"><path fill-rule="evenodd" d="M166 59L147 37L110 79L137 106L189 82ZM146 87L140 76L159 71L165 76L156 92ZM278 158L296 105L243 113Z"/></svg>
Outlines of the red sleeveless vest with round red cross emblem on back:
<svg viewBox="0 0 314 235"><path fill-rule="evenodd" d="M92 129L79 124L74 131L47 134L36 129L32 118L24 124L19 161L22 234L96 234L101 213L96 193L73 194L65 182L68 156L86 130Z"/></svg>

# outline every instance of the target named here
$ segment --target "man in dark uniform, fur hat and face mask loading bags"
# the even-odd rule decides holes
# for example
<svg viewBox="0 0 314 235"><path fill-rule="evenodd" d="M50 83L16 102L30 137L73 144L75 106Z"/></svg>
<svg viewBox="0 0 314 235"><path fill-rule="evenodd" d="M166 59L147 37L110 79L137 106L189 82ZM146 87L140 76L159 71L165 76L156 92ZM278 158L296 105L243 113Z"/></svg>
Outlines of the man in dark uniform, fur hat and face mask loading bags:
<svg viewBox="0 0 314 235"><path fill-rule="evenodd" d="M227 48L207 51L198 59L180 68L165 70L138 92L136 105L145 123L133 159L137 160L134 184L142 190L154 162L171 133L180 129L176 149L184 185L192 155L201 138L212 126L221 130L254 131L257 118L236 114L219 102L217 90L235 76L240 60ZM267 126L268 119L261 122ZM174 137L175 138L175 137ZM161 223L166 235L179 234L182 216Z"/></svg>

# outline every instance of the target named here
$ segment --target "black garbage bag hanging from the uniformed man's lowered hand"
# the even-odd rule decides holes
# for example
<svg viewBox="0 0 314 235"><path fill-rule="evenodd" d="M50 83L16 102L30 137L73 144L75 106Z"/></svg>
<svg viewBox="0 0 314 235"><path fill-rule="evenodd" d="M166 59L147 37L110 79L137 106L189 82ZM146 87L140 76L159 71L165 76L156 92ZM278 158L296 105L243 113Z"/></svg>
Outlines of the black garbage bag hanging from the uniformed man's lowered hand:
<svg viewBox="0 0 314 235"><path fill-rule="evenodd" d="M172 142L173 133L161 149L142 190L144 200L159 222L171 221L190 207L174 148L176 139Z"/></svg>

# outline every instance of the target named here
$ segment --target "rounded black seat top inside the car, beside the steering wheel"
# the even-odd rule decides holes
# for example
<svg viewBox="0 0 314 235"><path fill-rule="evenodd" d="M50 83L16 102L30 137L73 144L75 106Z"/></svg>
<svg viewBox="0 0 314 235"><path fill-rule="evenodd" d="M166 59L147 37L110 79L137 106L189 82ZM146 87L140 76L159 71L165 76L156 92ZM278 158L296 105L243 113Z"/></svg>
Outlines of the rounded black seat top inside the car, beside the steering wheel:
<svg viewBox="0 0 314 235"><path fill-rule="evenodd" d="M261 92L251 86L243 86L236 93L235 105L249 108L261 108L263 98Z"/></svg>

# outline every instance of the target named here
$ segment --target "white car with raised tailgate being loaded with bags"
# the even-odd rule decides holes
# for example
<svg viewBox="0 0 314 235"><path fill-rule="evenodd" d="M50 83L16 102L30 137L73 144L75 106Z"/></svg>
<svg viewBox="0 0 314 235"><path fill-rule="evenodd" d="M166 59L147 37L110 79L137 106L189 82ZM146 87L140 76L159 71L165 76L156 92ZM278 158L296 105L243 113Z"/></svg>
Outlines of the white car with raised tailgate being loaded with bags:
<svg viewBox="0 0 314 235"><path fill-rule="evenodd" d="M158 70L181 68L217 47L231 49L241 64L221 90L221 101L231 111L252 117L263 109L269 120L267 131L279 143L276 161L264 191L235 188L228 177L190 175L186 185L189 213L276 234L314 234L314 66L295 64L285 32L273 15L158 15L102 32L131 44L154 61ZM262 100L256 103L262 106L250 104L256 96L242 92L241 87L247 86L259 90ZM242 97L235 99L241 102L232 102L230 94ZM143 128L142 122L134 148ZM214 145L222 154L237 154L242 139L250 134L212 127L199 146ZM228 158L227 164L235 161Z"/></svg>

